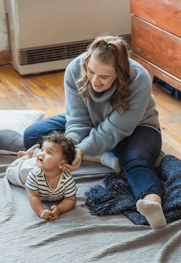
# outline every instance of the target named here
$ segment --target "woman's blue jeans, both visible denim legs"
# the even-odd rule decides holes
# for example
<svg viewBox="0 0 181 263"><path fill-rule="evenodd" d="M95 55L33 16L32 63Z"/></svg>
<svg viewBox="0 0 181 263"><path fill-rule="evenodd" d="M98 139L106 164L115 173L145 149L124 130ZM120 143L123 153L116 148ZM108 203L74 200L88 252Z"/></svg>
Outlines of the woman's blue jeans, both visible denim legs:
<svg viewBox="0 0 181 263"><path fill-rule="evenodd" d="M36 144L42 135L52 130L64 132L65 114L55 115L36 122L25 130L27 148ZM155 193L162 198L162 190L153 163L162 147L161 134L156 130L137 126L134 132L120 141L112 152L119 158L123 174L136 200Z"/></svg>

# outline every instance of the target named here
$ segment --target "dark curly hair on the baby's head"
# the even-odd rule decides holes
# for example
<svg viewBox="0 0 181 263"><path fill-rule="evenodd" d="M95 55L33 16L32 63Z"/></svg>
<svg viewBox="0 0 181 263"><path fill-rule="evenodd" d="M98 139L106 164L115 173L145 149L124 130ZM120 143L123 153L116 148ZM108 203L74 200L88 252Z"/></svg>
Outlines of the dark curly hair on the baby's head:
<svg viewBox="0 0 181 263"><path fill-rule="evenodd" d="M72 164L72 161L75 158L75 153L77 152L75 148L76 142L69 138L65 137L64 132L55 131L53 130L48 135L43 135L40 138L41 145L43 142L55 142L62 146L62 155L65 158L65 160L68 162L68 164Z"/></svg>

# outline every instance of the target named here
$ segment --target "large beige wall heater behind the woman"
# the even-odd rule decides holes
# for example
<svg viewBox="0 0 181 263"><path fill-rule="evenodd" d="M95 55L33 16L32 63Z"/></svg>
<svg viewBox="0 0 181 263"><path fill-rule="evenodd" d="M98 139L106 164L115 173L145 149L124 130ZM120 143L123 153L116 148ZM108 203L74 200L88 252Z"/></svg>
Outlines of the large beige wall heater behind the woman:
<svg viewBox="0 0 181 263"><path fill-rule="evenodd" d="M102 33L131 42L127 0L5 0L10 62L21 74L65 69Z"/></svg>

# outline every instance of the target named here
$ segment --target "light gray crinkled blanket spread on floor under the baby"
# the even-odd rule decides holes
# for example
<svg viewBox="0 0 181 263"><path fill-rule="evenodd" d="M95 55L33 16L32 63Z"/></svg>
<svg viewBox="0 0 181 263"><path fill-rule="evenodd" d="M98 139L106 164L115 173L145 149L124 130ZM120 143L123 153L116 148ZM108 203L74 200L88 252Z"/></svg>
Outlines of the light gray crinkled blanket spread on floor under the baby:
<svg viewBox="0 0 181 263"><path fill-rule="evenodd" d="M74 172L76 206L58 221L32 211L24 188L9 184L4 170L14 156L0 155L0 261L8 263L173 263L181 262L181 220L151 230L135 225L122 213L92 216L85 191L103 185L110 169L81 164ZM52 202L44 202L51 207Z"/></svg>

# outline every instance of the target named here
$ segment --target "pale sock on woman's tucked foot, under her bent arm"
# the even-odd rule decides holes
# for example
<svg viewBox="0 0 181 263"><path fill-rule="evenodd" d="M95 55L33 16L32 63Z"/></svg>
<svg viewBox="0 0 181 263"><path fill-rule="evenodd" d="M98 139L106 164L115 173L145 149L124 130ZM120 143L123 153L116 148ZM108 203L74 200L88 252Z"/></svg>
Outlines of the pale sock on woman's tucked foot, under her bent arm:
<svg viewBox="0 0 181 263"><path fill-rule="evenodd" d="M112 168L116 172L121 172L119 159L112 152L105 152L102 154L101 164Z"/></svg>

